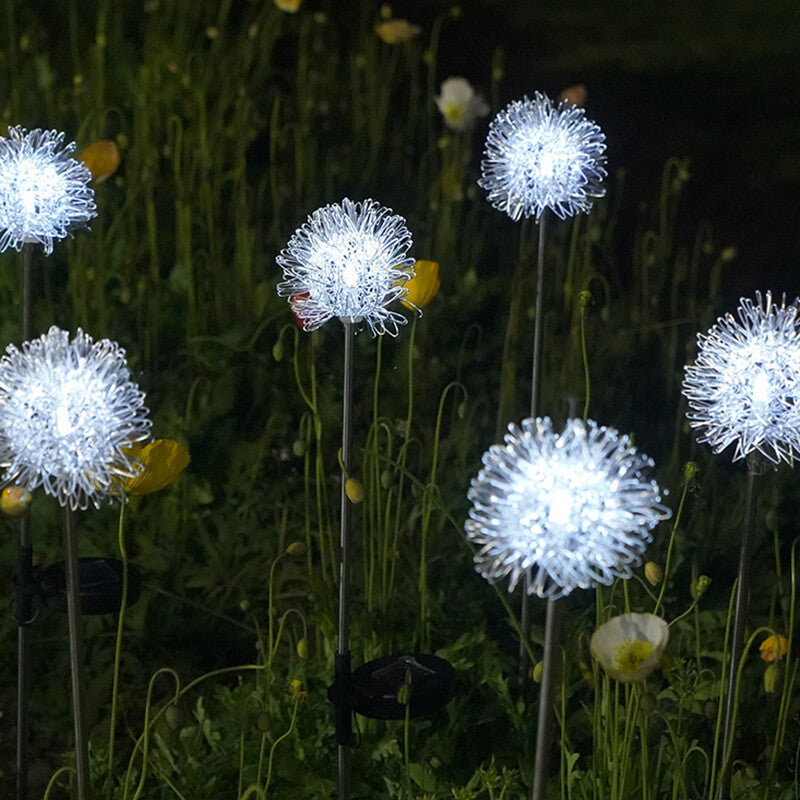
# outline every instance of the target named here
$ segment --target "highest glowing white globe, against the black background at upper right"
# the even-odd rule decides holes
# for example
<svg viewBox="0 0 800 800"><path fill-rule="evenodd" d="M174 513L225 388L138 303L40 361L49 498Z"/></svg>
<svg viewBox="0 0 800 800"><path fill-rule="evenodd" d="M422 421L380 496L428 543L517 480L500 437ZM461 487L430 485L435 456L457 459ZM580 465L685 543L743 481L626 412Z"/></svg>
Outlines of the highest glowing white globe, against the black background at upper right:
<svg viewBox="0 0 800 800"><path fill-rule="evenodd" d="M588 211L605 194L606 137L569 102L555 105L536 92L515 100L489 126L478 185L511 219L545 208L561 219Z"/></svg>

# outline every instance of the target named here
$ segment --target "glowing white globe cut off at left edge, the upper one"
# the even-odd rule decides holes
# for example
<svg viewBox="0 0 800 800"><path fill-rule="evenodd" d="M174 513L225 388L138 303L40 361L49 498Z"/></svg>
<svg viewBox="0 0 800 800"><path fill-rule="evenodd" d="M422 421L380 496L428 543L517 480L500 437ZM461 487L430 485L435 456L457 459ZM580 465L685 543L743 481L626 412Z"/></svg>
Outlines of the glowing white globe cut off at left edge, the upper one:
<svg viewBox="0 0 800 800"><path fill-rule="evenodd" d="M56 131L11 127L0 137L0 252L38 242L49 255L53 240L97 216L92 173Z"/></svg>

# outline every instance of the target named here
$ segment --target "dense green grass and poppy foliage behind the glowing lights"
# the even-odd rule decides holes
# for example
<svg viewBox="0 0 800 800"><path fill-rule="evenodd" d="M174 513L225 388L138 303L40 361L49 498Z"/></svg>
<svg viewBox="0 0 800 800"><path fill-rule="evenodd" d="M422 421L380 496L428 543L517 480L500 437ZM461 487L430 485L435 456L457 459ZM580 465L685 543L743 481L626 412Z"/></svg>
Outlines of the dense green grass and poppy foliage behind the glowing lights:
<svg viewBox="0 0 800 800"><path fill-rule="evenodd" d="M336 642L341 325L303 332L277 297L274 259L309 213L349 196L402 214L412 254L438 262L442 282L421 318L407 312L396 339L356 337L354 446L365 499L354 507L353 659L435 652L457 671L454 698L430 720L358 720L353 797L526 796L538 685L517 682L519 598L475 574L463 521L481 454L528 408L537 236L532 222L492 210L476 186L485 121L450 130L434 103L454 72L440 53L452 52L448 37L470 24L470 8L434 16L428 6L418 34L390 44L374 26L391 11L370 2L341 14L333 4L289 14L266 0L5 6L3 124L64 130L79 154L112 140L121 154L119 169L95 185L91 231L35 258L34 329L81 326L123 345L154 435L185 443L192 457L175 484L125 509L143 589L124 619L114 734L118 619L85 620L95 795L334 793L326 687ZM475 13L496 7L476 4ZM587 11L585 26L599 24L593 13L602 19ZM556 12L549 19L556 24ZM673 24L692 19L676 13ZM769 27L766 49L781 32ZM643 39L620 50L618 34L598 39L598 62L607 65L609 47L625 58L650 52ZM727 47L708 42L709 52ZM470 59L494 113L512 99L504 54L487 47ZM604 126L597 111L589 115ZM643 569L624 587L566 601L553 798L709 798L722 766L721 662L745 474L695 444L680 385L696 333L728 310L736 250L713 224L682 213L694 168L677 156L652 165L649 193L631 197L621 169L590 215L549 226L540 408L559 423L580 415L585 330L590 416L631 433L655 459L675 512L647 551L664 572L660 604L661 586ZM0 264L5 345L19 341L21 256L8 251ZM770 631L792 641L797 502L789 468L760 480L757 633L740 681L748 733L736 745L735 798L800 791L796 655L775 662L780 679L768 686L758 656ZM80 516L83 555L118 555L118 514L109 506ZM31 529L42 565L62 557L60 522L57 505L37 494ZM10 602L16 529L12 520L2 529L0 595ZM305 545L302 555L287 552L293 542ZM701 575L710 577L705 592ZM667 655L645 682L621 687L592 659L589 636L626 608L654 605L674 623ZM543 603L534 601L532 617L538 660ZM10 614L0 641L0 793L11 796ZM32 648L38 797L72 759L60 613L41 609ZM49 792L69 797L68 775Z"/></svg>

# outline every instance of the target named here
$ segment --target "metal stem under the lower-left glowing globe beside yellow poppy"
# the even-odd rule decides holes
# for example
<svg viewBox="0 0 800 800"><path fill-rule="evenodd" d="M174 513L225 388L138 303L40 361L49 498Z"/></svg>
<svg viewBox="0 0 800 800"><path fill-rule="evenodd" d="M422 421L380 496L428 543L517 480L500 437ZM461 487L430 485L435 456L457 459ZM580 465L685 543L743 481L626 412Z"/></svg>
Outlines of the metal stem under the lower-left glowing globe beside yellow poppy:
<svg viewBox="0 0 800 800"><path fill-rule="evenodd" d="M67 578L67 622L72 686L72 718L75 726L75 771L78 776L77 800L89 800L89 753L83 727L83 659L81 656L80 576L75 516L64 509L64 568Z"/></svg>

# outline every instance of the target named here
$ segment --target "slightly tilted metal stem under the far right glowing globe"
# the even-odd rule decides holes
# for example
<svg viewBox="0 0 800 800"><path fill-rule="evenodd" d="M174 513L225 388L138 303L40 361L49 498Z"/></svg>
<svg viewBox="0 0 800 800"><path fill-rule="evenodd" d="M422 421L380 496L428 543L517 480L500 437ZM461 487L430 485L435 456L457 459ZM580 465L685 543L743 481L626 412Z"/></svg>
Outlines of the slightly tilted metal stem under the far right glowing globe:
<svg viewBox="0 0 800 800"><path fill-rule="evenodd" d="M747 607L750 599L750 559L753 539L753 516L755 512L755 481L759 474L758 461L753 455L747 458L747 490L744 501L741 543L739 547L739 577L736 583L736 601L733 611L731 634L731 659L728 666L728 687L725 697L725 724L722 732L722 759L725 762L728 748L733 742L733 717L736 710L736 675L744 649L744 629L747 624ZM720 777L720 800L727 800L730 789L730 768L726 767Z"/></svg>

